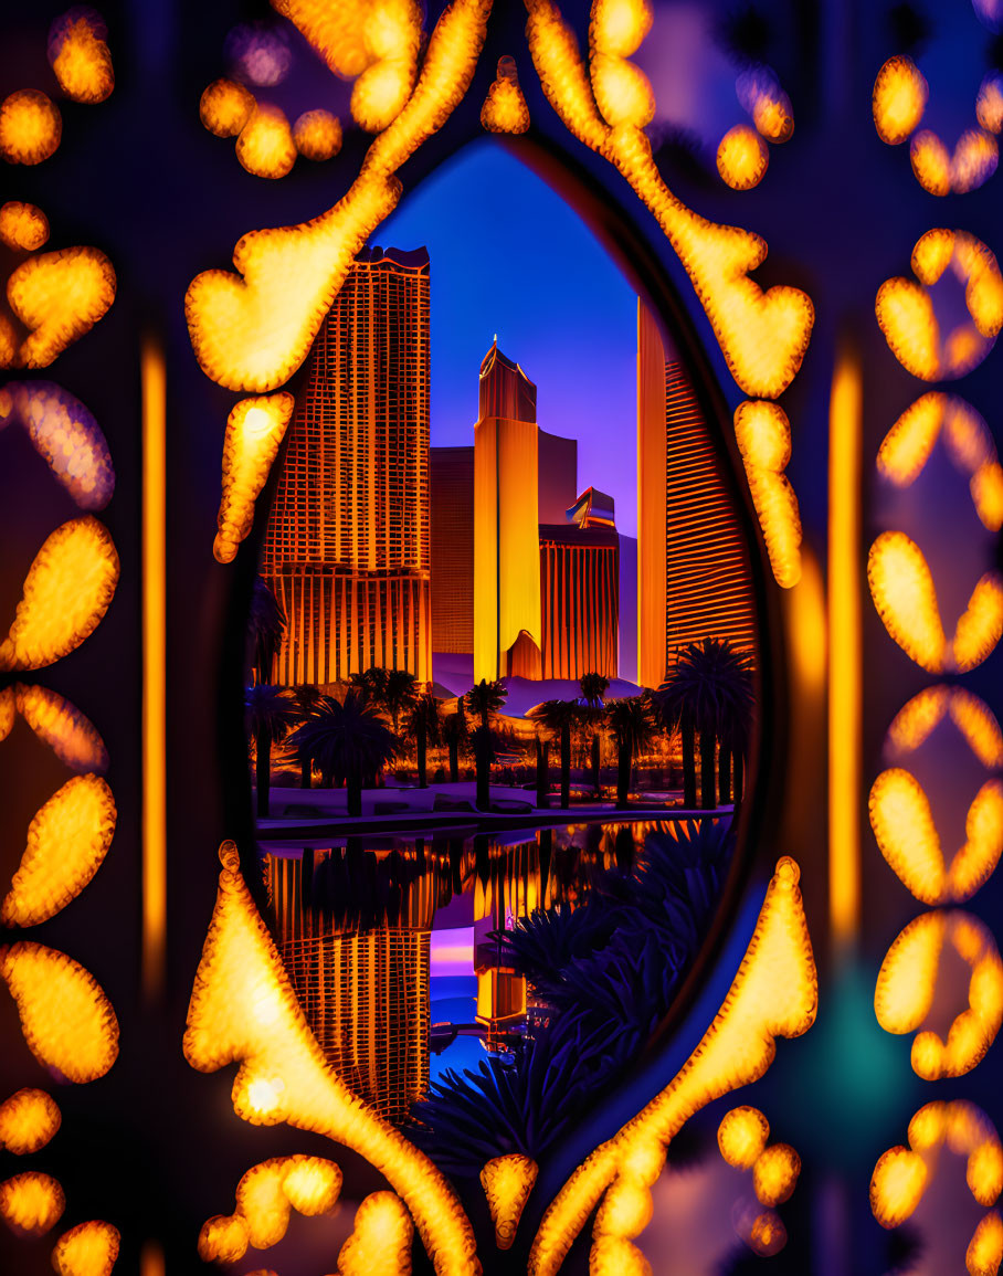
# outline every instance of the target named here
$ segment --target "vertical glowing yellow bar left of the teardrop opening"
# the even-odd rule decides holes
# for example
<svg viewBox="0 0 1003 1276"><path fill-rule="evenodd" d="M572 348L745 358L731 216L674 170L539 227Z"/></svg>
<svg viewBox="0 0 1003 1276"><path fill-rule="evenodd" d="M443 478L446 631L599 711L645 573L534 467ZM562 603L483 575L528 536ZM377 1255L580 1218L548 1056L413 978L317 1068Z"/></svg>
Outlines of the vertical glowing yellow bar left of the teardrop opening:
<svg viewBox="0 0 1003 1276"><path fill-rule="evenodd" d="M163 352L147 336L143 382L143 995L163 991L167 934L166 401Z"/></svg>

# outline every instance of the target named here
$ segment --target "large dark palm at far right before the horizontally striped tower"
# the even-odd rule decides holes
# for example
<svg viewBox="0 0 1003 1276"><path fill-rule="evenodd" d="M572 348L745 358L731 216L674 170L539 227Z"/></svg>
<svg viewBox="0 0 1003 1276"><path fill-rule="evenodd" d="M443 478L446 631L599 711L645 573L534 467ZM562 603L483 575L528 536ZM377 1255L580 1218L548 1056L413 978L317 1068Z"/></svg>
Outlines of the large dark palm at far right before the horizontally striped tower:
<svg viewBox="0 0 1003 1276"><path fill-rule="evenodd" d="M701 740L701 806L715 801L715 745L732 732L744 732L752 718L752 657L736 651L727 638L689 643L676 658L671 676L656 693L666 718L683 732L683 785L685 806L695 805L693 736ZM727 746L731 746L730 744Z"/></svg>

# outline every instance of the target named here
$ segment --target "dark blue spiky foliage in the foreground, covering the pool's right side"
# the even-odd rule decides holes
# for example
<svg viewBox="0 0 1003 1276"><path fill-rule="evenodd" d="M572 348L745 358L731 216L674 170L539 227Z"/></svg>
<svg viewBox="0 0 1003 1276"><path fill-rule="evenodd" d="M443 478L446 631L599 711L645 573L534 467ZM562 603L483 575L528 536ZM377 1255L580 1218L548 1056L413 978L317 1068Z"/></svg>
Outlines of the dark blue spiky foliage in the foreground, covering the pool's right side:
<svg viewBox="0 0 1003 1276"><path fill-rule="evenodd" d="M448 1071L415 1105L415 1141L458 1178L507 1152L539 1160L625 1074L666 1014L717 905L729 822L651 835L630 872L574 910L537 910L491 938L549 1008L512 1055Z"/></svg>

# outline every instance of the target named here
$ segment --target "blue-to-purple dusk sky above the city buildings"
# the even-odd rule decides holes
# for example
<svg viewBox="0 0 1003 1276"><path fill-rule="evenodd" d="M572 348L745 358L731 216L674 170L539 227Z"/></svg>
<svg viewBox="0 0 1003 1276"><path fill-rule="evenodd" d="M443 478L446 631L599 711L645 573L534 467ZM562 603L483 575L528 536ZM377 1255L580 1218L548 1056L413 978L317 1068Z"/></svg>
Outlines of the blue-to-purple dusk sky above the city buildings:
<svg viewBox="0 0 1003 1276"><path fill-rule="evenodd" d="M542 429L578 439L578 487L637 535L637 296L574 209L485 140L436 170L374 242L431 260L431 443L473 441L477 370L500 350L537 385Z"/></svg>

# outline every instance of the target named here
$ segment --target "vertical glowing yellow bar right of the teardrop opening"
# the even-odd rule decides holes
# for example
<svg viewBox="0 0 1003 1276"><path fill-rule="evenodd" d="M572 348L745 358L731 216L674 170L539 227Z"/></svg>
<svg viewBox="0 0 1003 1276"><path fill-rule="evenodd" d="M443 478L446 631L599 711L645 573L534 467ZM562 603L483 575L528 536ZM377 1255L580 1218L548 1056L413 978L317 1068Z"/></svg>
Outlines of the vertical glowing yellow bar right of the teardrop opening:
<svg viewBox="0 0 1003 1276"><path fill-rule="evenodd" d="M829 924L845 952L860 928L860 360L841 345L829 399Z"/></svg>

